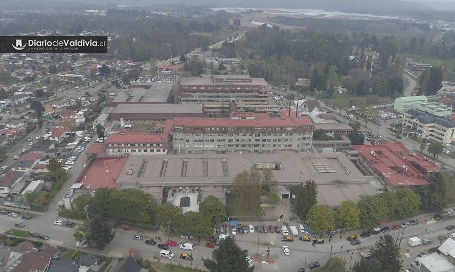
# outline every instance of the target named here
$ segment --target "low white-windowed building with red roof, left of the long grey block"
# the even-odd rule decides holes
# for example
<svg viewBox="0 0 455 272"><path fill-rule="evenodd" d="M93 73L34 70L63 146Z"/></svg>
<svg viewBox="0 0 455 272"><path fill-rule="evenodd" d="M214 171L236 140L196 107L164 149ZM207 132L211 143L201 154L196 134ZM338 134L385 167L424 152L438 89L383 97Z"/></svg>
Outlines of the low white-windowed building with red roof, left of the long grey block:
<svg viewBox="0 0 455 272"><path fill-rule="evenodd" d="M166 155L169 134L115 133L104 142L107 155Z"/></svg>

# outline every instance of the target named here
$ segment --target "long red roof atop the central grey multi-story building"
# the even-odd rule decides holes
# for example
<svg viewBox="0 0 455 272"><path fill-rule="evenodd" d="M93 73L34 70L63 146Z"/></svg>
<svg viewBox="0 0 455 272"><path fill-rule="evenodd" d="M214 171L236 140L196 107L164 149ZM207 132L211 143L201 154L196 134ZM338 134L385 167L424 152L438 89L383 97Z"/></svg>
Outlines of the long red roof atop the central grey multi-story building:
<svg viewBox="0 0 455 272"><path fill-rule="evenodd" d="M230 118L174 118L174 126L190 127L295 127L313 126L310 118L257 118L233 120Z"/></svg>

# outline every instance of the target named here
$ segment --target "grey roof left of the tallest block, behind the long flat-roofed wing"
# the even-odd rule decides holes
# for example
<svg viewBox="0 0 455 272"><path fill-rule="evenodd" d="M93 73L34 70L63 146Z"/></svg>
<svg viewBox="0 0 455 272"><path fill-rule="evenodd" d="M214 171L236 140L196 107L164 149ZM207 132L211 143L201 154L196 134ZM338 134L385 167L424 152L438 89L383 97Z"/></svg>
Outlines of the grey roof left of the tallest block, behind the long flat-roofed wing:
<svg viewBox="0 0 455 272"><path fill-rule="evenodd" d="M155 83L147 89L124 89L113 100L121 102L166 103L172 91L173 83Z"/></svg>

